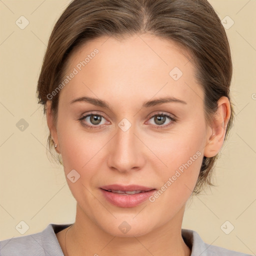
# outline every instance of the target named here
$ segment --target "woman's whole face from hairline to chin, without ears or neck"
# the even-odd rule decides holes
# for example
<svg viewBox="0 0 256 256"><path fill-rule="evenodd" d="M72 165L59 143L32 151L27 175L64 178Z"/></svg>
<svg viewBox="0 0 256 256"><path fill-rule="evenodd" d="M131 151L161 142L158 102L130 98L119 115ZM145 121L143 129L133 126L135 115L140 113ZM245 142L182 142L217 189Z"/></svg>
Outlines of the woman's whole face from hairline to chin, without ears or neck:
<svg viewBox="0 0 256 256"><path fill-rule="evenodd" d="M77 214L107 233L181 225L209 136L189 58L173 42L143 34L91 40L69 59L52 135ZM113 184L154 190L102 189L122 190Z"/></svg>

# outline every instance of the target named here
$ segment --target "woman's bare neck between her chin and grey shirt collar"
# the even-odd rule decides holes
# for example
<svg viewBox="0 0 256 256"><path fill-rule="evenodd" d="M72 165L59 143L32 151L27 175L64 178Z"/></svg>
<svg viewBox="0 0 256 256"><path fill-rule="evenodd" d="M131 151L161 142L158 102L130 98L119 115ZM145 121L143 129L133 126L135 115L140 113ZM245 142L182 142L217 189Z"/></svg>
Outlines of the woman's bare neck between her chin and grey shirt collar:
<svg viewBox="0 0 256 256"><path fill-rule="evenodd" d="M183 213L184 206L163 226L154 228L144 235L120 237L102 230L77 204L75 222L66 234L65 256L149 254L189 256L190 249L181 237Z"/></svg>

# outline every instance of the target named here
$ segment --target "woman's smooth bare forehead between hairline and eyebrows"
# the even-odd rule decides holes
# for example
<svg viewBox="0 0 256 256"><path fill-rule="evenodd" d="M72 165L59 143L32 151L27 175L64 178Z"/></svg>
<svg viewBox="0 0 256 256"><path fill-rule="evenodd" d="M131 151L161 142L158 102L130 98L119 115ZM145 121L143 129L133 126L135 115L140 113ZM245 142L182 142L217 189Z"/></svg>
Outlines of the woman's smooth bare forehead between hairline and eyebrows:
<svg viewBox="0 0 256 256"><path fill-rule="evenodd" d="M202 91L189 59L191 54L184 47L151 34L124 39L102 36L87 41L69 56L65 75L74 69L76 74L62 90L69 98L95 92L98 97L112 93L124 99L132 93L145 98L166 92L189 96L192 88L198 97Z"/></svg>

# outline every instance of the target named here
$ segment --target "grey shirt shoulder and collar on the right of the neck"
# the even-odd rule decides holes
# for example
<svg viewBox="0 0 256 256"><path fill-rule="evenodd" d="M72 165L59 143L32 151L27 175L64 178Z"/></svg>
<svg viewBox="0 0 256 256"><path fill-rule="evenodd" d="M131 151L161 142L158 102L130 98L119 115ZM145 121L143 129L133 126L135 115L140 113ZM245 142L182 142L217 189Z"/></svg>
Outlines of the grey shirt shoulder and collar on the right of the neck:
<svg viewBox="0 0 256 256"><path fill-rule="evenodd" d="M191 256L250 256L250 254L228 250L219 246L205 243L199 234L190 229L181 229L184 242L191 249Z"/></svg>

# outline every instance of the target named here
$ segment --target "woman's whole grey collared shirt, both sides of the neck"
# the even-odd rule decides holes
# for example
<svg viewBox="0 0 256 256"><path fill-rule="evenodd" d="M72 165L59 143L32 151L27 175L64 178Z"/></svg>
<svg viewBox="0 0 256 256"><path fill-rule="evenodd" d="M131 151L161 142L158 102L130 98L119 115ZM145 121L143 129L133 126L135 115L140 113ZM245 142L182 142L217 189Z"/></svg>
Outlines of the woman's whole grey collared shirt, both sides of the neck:
<svg viewBox="0 0 256 256"><path fill-rule="evenodd" d="M0 241L0 256L63 256L55 233L71 224L48 224L41 232ZM224 249L202 241L199 234L181 229L184 242L191 249L191 256L245 256L249 254Z"/></svg>

